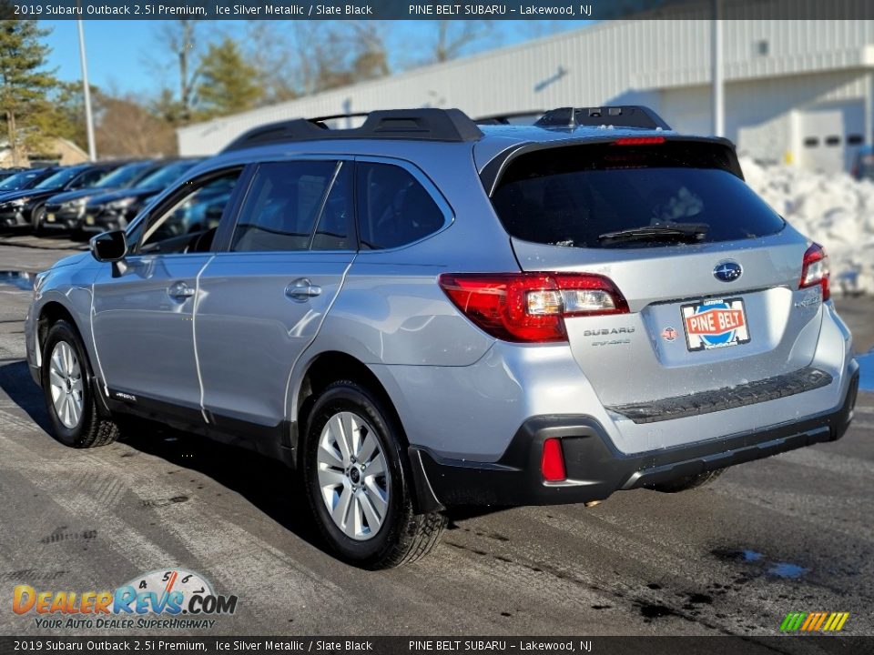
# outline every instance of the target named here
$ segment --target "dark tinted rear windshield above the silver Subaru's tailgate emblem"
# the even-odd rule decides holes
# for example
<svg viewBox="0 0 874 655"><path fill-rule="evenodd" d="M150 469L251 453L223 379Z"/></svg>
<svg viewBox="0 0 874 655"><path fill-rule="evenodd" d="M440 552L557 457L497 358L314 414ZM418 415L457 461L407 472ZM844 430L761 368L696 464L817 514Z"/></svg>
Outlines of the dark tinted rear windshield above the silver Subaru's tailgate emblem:
<svg viewBox="0 0 874 655"><path fill-rule="evenodd" d="M720 147L564 146L518 157L493 194L511 236L565 247L664 246L670 238L605 235L700 226L696 243L779 232L784 221L732 174Z"/></svg>

